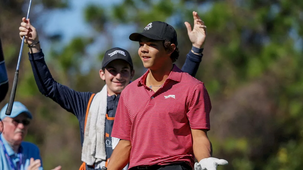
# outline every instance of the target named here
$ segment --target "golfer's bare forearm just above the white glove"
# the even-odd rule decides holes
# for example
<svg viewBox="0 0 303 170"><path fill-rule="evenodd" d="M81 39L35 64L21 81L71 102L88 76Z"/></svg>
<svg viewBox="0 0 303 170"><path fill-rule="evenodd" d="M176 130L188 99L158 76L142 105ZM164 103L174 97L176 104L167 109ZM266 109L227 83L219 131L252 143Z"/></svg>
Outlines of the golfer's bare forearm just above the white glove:
<svg viewBox="0 0 303 170"><path fill-rule="evenodd" d="M195 158L201 161L212 156L212 145L208 138L202 137L193 141Z"/></svg>

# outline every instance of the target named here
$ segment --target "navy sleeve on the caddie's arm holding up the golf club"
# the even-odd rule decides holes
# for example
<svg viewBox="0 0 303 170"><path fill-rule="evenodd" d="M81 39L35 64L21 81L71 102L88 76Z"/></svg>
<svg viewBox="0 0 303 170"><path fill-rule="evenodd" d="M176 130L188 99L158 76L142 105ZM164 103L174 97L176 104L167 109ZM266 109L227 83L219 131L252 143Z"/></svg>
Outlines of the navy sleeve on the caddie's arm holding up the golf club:
<svg viewBox="0 0 303 170"><path fill-rule="evenodd" d="M57 83L48 70L42 50L38 53L28 53L28 55L39 91L68 112L75 114L79 120L85 117L92 93L78 92Z"/></svg>

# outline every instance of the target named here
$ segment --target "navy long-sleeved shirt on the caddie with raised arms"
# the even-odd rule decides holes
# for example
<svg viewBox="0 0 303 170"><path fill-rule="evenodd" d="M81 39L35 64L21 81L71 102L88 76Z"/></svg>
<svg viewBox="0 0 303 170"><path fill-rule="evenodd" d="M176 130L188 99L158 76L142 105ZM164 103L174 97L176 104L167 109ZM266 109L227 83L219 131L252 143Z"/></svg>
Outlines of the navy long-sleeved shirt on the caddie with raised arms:
<svg viewBox="0 0 303 170"><path fill-rule="evenodd" d="M42 50L34 54L28 53L28 55L39 91L43 95L51 98L56 103L58 103L62 108L64 108L68 112L73 113L77 117L80 126L81 144L83 144L84 129L85 129L84 127L85 114L86 114L88 101L93 93L78 92L56 82L53 79L50 71L48 70ZM183 65L182 70L184 72L191 74L192 76L195 76L198 71L198 67L201 62L201 59L202 59L202 55L196 55L191 51L189 51L189 53L186 56L185 64ZM108 96L108 108L107 108L108 117L115 117L119 96L120 95ZM109 119L106 119L106 125L109 126L105 126L105 132L108 133L110 136L113 126L113 121L109 121ZM110 138L106 138L106 139L110 139ZM105 141L105 144L107 143L109 144L109 141ZM111 144L106 146L106 152L109 154L108 158L112 153L112 150L110 150L111 148L112 148Z"/></svg>

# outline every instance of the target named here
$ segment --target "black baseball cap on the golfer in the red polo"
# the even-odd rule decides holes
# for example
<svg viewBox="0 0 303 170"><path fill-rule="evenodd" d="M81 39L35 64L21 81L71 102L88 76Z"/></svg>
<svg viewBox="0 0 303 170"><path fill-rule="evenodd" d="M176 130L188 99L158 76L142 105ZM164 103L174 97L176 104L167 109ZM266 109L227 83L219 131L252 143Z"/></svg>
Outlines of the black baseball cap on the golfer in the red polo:
<svg viewBox="0 0 303 170"><path fill-rule="evenodd" d="M142 37L153 40L168 40L172 44L178 45L175 29L166 22L153 21L149 23L142 32L130 34L129 39L132 41L140 41Z"/></svg>

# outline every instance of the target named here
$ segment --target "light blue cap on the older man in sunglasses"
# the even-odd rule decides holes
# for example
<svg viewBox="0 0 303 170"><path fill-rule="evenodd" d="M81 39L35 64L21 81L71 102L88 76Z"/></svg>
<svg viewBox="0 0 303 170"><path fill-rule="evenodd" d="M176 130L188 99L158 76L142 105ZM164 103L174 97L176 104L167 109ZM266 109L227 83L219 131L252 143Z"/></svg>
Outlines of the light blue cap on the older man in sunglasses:
<svg viewBox="0 0 303 170"><path fill-rule="evenodd" d="M13 109L12 109L12 114L11 115L6 115L6 108L8 106L8 103L2 108L0 112L0 119L3 120L6 116L14 118L18 116L20 113L26 113L28 115L28 118L32 119L32 113L29 112L29 110L20 102L14 102L13 104Z"/></svg>

